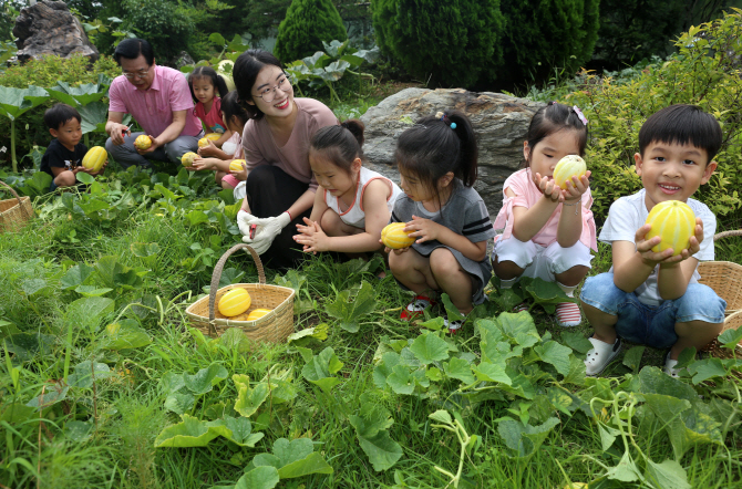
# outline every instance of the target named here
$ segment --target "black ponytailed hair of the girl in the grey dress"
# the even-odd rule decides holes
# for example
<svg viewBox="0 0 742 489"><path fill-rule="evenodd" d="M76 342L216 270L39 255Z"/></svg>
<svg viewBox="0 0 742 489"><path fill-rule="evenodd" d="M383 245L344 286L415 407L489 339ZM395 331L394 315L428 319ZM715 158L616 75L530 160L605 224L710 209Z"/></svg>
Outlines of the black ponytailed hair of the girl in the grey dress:
<svg viewBox="0 0 742 489"><path fill-rule="evenodd" d="M474 185L478 149L472 123L464 113L439 114L421 118L402 133L394 159L401 170L414 175L440 202L437 181L449 171L464 186Z"/></svg>

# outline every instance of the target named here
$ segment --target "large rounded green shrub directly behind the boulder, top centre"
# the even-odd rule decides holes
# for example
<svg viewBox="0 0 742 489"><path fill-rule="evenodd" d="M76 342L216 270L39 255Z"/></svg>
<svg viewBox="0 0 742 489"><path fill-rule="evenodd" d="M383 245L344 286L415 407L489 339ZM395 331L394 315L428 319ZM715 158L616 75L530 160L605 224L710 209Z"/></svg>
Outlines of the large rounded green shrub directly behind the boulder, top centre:
<svg viewBox="0 0 742 489"><path fill-rule="evenodd" d="M420 80L444 86L489 80L502 61L499 0L373 0L377 42Z"/></svg>

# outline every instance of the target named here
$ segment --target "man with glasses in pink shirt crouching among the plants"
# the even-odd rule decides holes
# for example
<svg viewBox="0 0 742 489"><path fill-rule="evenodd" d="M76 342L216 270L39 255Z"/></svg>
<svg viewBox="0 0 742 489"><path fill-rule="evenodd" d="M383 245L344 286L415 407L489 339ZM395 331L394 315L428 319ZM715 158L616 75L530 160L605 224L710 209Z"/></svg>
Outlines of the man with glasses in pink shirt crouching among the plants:
<svg viewBox="0 0 742 489"><path fill-rule="evenodd" d="M109 122L105 148L124 169L132 165L152 167L151 159L181 163L187 152L198 149L204 131L194 113L194 102L186 77L172 67L155 64L152 45L144 39L126 39L113 54L123 74L109 90ZM134 133L122 124L124 114L142 126ZM134 147L137 136L152 138L147 149Z"/></svg>

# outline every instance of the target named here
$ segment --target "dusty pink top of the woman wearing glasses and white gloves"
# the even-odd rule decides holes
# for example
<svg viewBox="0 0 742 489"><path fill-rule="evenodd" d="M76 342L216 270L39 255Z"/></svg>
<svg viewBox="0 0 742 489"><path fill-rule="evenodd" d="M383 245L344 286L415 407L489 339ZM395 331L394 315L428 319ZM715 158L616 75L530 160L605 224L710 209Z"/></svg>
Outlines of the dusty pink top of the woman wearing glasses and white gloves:
<svg viewBox="0 0 742 489"><path fill-rule="evenodd" d="M279 147L266 117L250 119L243 131L244 159L248 170L260 165L275 165L317 191L317 179L309 166L309 143L320 128L339 124L338 117L327 105L313 98L293 101L299 112L289 141Z"/></svg>

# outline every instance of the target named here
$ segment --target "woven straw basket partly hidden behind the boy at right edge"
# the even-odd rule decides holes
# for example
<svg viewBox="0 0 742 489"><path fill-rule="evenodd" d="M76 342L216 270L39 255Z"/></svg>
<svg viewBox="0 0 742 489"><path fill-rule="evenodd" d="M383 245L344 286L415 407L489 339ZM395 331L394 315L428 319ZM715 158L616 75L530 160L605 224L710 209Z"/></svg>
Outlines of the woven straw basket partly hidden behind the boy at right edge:
<svg viewBox="0 0 742 489"><path fill-rule="evenodd" d="M719 232L714 235L713 240L718 241L729 236L742 236L742 229ZM704 261L699 264L698 272L701 274L699 282L709 285L726 301L726 318L722 333L742 326L742 266L731 261ZM722 348L717 340L709 343L702 351L719 357L732 357L733 355L731 350ZM742 344L736 345L736 352L738 355L742 354Z"/></svg>

